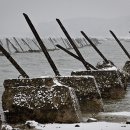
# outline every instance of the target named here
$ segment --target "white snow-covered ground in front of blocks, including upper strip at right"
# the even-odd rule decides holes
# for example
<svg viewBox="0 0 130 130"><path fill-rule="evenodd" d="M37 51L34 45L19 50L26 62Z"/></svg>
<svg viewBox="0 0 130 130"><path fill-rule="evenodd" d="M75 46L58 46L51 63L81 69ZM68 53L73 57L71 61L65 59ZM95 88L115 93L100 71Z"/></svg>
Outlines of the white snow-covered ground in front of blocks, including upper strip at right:
<svg viewBox="0 0 130 130"><path fill-rule="evenodd" d="M118 118L126 117L126 120L123 122L106 122L89 118L92 122L86 121L74 124L40 124L36 121L26 121L25 125L17 128L20 128L20 130L28 128L31 130L130 130L130 112L107 112L99 114L103 116L117 116ZM129 124L126 124L126 122ZM5 128L4 130L13 130L13 128L9 125L2 125L2 127Z"/></svg>

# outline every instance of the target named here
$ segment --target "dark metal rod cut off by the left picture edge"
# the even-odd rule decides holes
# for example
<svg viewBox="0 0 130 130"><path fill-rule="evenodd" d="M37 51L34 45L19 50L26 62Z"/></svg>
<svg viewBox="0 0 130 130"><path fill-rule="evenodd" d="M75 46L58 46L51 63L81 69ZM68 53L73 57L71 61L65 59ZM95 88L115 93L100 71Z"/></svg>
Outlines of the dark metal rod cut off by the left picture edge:
<svg viewBox="0 0 130 130"><path fill-rule="evenodd" d="M25 73L25 71L11 57L11 55L2 47L2 45L0 45L0 50L24 78L29 78L29 76Z"/></svg>

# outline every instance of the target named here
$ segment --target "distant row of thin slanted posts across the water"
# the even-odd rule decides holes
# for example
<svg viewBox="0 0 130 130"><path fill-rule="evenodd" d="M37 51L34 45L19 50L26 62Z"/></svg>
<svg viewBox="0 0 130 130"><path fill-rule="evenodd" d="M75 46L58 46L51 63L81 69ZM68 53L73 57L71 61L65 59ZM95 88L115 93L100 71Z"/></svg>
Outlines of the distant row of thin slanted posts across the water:
<svg viewBox="0 0 130 130"><path fill-rule="evenodd" d="M92 38L95 44L98 44L99 41L95 38ZM78 48L89 46L90 44L86 41L85 38L75 38L73 39L74 43ZM71 44L66 38L47 38L43 42L46 44L48 51L54 51L58 48L56 44L62 44L66 49L72 49ZM9 53L24 53L24 52L39 52L41 51L39 44L36 39L30 38L5 38L0 39L0 44L9 52Z"/></svg>

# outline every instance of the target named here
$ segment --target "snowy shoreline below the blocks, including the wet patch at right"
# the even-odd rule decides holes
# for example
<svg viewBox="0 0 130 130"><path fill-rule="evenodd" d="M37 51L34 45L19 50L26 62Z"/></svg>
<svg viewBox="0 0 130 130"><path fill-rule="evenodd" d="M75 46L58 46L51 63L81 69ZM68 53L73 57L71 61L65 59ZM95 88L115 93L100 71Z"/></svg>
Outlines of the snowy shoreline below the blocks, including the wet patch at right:
<svg viewBox="0 0 130 130"><path fill-rule="evenodd" d="M6 127L5 130L13 130L14 128L19 128L20 130L130 130L130 112L100 112L97 115L91 115L90 117L89 116L87 117L83 115L83 122L81 123L40 124L36 121L30 120L26 121L25 124L17 125L9 125L3 123L2 127ZM87 120L90 118L91 121L87 122ZM93 120L92 118L96 120Z"/></svg>

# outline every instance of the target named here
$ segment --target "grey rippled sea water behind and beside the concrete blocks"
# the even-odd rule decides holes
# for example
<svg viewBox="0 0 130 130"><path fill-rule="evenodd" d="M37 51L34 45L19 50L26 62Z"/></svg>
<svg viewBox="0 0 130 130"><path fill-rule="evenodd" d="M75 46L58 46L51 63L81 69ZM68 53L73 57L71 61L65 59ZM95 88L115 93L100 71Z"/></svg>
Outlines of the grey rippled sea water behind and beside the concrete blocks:
<svg viewBox="0 0 130 130"><path fill-rule="evenodd" d="M121 50L119 45L112 40L106 40L101 42L102 44L98 45L100 51L107 57L107 59L113 61L118 68L122 68L128 58ZM129 51L130 42L123 41L122 43ZM81 48L80 51L85 57L85 59L93 65L96 65L97 62L102 61L100 56L95 52L92 47L87 46ZM85 70L84 66L79 61L72 58L61 50L51 51L49 53L54 59L56 66L59 68L61 75L70 75L71 71L73 70ZM49 66L46 58L44 57L43 53L12 54L12 57L19 63L19 65L21 65L21 67L30 77L39 77L43 75L54 76L54 73ZM3 81L9 78L17 78L19 76L19 73L4 56L0 56L0 61L1 97L4 91ZM127 88L127 92L123 99L107 102L106 108L107 111L130 111L130 87ZM0 112L2 113L1 100Z"/></svg>

